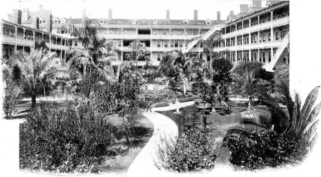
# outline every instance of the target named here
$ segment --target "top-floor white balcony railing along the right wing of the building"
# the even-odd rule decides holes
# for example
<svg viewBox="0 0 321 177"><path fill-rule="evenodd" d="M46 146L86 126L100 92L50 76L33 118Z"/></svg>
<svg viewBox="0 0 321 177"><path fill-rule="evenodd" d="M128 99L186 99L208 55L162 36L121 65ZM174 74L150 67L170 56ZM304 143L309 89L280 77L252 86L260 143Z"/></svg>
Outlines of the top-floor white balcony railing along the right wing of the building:
<svg viewBox="0 0 321 177"><path fill-rule="evenodd" d="M271 26L276 27L276 26L281 26L285 24L289 24L289 16L285 16L282 18L274 19L272 21L267 21L265 23L257 24L257 25L239 29L230 33L226 33L222 35L222 38L234 37L236 35L242 35L242 34L247 34L249 32L267 29L267 28L270 28Z"/></svg>

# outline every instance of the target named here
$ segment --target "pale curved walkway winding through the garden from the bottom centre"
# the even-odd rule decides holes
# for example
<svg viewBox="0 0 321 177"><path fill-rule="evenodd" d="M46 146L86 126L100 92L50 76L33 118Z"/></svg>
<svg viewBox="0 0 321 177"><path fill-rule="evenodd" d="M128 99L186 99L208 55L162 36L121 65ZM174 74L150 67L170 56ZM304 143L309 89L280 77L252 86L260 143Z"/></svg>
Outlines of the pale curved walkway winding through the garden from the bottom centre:
<svg viewBox="0 0 321 177"><path fill-rule="evenodd" d="M194 104L194 101L180 102L178 105L172 104L166 107L154 107L150 112L145 112L143 114L153 123L154 132L147 144L141 149L139 154L130 164L126 176L150 176L153 174L157 174L157 176L159 174L169 175L169 172L159 170L154 165L154 159L156 159L155 152L158 144L161 144L161 136L162 138L173 138L177 136L178 127L171 118L155 111L175 110L177 107L181 108L192 104Z"/></svg>

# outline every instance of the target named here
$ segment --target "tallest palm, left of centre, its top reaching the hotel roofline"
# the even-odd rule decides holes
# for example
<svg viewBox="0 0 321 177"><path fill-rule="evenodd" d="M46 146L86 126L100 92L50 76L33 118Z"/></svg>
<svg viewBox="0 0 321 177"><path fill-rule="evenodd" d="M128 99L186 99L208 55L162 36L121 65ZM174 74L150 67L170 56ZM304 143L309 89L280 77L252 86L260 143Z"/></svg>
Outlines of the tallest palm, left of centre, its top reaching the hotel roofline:
<svg viewBox="0 0 321 177"><path fill-rule="evenodd" d="M99 37L97 27L91 25L87 17L83 21L81 27L72 28L74 35L82 41L83 48L71 47L67 50L70 67L82 70L83 75L88 69L89 72L94 70L101 75L102 82L117 80L111 65L112 61L119 60L119 49L113 45L114 40Z"/></svg>

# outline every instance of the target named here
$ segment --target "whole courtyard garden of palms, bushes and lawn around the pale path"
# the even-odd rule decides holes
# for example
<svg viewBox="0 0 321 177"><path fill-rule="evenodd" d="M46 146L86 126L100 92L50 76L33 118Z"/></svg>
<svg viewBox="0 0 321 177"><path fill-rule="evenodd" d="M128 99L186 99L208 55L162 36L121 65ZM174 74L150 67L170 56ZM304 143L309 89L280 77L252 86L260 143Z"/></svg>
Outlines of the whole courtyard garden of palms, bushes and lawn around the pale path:
<svg viewBox="0 0 321 177"><path fill-rule="evenodd" d="M2 60L5 117L25 120L22 170L124 175L156 128L144 116L156 107L167 108L157 112L178 127L155 149L154 165L168 171L299 164L316 141L319 86L301 102L290 93L288 66L267 72L260 62L241 60L233 67L224 57L229 51L212 53L219 34L201 41L208 61L171 51L153 66L145 44L135 40L126 61L112 65L120 56L113 40L100 37L86 18L73 29L83 47L71 47L66 59L43 43ZM48 96L57 90L64 94ZM175 106L183 102L190 104Z"/></svg>

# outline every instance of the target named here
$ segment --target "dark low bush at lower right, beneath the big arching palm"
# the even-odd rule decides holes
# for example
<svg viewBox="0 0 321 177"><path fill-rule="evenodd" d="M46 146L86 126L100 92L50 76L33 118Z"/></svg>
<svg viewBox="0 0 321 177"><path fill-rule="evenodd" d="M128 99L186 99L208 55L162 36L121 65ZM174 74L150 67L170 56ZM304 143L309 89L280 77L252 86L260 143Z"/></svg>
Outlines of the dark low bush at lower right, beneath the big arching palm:
<svg viewBox="0 0 321 177"><path fill-rule="evenodd" d="M293 136L272 130L234 134L223 141L231 151L230 162L249 170L293 162L301 153L299 143Z"/></svg>

